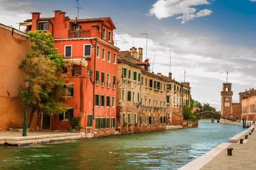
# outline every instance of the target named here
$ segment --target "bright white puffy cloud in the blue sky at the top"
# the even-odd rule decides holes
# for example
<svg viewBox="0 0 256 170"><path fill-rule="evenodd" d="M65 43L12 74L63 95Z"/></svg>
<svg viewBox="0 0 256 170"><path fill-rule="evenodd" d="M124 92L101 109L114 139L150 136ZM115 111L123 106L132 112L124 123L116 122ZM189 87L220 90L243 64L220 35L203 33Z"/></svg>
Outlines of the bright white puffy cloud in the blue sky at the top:
<svg viewBox="0 0 256 170"><path fill-rule="evenodd" d="M158 19L173 17L177 14L182 14L176 19L182 19L181 23L186 23L195 17L204 17L212 13L209 9L197 11L191 6L208 5L207 0L157 0L149 10L149 15L155 15Z"/></svg>

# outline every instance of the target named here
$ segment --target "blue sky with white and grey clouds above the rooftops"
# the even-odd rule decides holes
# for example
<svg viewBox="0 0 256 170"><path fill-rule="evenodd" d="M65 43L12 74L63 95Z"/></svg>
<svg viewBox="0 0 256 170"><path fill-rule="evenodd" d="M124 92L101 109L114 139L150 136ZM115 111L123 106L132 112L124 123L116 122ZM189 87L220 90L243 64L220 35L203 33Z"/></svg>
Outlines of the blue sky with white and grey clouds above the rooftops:
<svg viewBox="0 0 256 170"><path fill-rule="evenodd" d="M76 0L0 0L0 23L19 28L30 12L53 17L53 10L74 19L77 5ZM79 0L79 7L79 18L111 17L115 45L121 51L143 48L154 73L168 76L171 70L172 78L184 82L186 70L192 98L217 111L227 75L233 102L239 102L239 92L256 88L256 0Z"/></svg>

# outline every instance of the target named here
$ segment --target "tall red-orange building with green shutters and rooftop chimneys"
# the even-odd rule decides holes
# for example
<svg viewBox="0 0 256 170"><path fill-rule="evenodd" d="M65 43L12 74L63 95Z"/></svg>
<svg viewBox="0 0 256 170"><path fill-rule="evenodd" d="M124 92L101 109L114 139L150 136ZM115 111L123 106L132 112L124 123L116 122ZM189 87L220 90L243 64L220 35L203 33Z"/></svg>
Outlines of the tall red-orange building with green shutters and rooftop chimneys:
<svg viewBox="0 0 256 170"><path fill-rule="evenodd" d="M26 20L26 31L44 30L55 39L58 53L63 54L71 95L63 98L68 110L63 115L43 115L42 127L67 130L70 117L81 117L87 137L115 133L117 53L113 44L113 24L110 17L71 20L63 11L54 17L32 13Z"/></svg>

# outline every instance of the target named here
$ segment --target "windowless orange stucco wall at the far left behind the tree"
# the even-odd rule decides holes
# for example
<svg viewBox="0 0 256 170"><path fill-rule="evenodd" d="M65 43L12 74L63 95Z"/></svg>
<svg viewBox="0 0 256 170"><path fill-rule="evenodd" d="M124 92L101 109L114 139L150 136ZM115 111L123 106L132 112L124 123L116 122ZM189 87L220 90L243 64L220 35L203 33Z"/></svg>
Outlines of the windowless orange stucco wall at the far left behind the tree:
<svg viewBox="0 0 256 170"><path fill-rule="evenodd" d="M17 99L17 88L20 83L24 83L19 64L31 48L26 35L17 30L12 35L10 27L0 25L0 35L0 47L4 49L0 56L0 130L6 130L8 125L23 125L24 104ZM29 113L28 111L27 119ZM37 126L36 115L37 113L32 122L34 128ZM27 123L29 123L28 120Z"/></svg>

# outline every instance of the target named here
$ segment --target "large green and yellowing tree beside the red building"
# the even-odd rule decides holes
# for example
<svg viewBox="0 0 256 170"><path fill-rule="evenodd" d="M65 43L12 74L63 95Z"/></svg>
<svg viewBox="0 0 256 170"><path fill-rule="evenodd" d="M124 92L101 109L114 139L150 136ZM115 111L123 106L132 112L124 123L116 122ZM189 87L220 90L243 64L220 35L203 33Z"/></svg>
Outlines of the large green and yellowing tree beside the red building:
<svg viewBox="0 0 256 170"><path fill-rule="evenodd" d="M26 53L26 59L20 64L25 79L29 79L27 105L32 108L29 117L31 126L35 111L54 115L64 113L66 105L59 96L69 93L64 86L66 74L62 55L55 48L54 39L50 33L43 31L29 31L29 40L32 42L32 52ZM25 88L20 84L18 98L25 100Z"/></svg>

